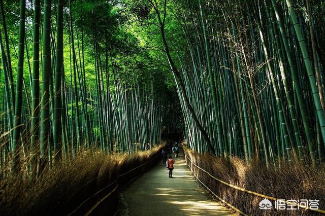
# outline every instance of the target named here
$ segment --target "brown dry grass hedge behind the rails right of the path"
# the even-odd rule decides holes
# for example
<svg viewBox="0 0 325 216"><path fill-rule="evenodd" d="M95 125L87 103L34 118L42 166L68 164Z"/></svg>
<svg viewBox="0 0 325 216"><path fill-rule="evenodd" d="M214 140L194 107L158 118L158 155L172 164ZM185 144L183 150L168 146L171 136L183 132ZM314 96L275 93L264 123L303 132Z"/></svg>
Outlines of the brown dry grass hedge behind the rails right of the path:
<svg viewBox="0 0 325 216"><path fill-rule="evenodd" d="M238 157L229 157L229 160L224 160L208 154L194 153L186 147L184 150L194 164L224 182L278 199L317 199L320 200L319 209L325 209L324 167L313 169L309 164L302 164L296 160L290 164L282 162L281 168L267 169L259 161L252 161L250 165L247 165ZM274 201L272 201L272 210L261 210L258 203L263 198L221 184L195 166L192 166L192 169L200 180L218 196L248 215L319 214L310 210L276 210Z"/></svg>

